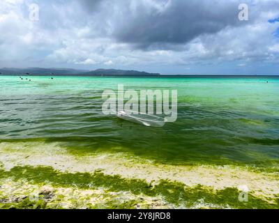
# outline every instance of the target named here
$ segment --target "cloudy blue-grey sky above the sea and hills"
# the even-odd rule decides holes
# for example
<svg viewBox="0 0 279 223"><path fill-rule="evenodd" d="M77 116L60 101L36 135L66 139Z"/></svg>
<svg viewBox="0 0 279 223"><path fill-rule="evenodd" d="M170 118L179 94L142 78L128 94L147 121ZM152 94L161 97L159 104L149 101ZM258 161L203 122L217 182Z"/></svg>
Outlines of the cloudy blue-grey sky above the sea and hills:
<svg viewBox="0 0 279 223"><path fill-rule="evenodd" d="M278 62L279 0L0 1L0 68L279 75Z"/></svg>

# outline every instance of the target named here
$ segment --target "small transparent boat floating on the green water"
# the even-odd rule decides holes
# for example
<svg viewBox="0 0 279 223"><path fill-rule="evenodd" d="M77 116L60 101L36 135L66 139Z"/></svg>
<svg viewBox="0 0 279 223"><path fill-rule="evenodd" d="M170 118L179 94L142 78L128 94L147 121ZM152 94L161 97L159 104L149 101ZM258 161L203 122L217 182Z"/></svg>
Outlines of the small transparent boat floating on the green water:
<svg viewBox="0 0 279 223"><path fill-rule="evenodd" d="M126 121L145 125L147 127L163 127L167 122L166 118L151 114L133 114L133 111L116 112L116 115Z"/></svg>

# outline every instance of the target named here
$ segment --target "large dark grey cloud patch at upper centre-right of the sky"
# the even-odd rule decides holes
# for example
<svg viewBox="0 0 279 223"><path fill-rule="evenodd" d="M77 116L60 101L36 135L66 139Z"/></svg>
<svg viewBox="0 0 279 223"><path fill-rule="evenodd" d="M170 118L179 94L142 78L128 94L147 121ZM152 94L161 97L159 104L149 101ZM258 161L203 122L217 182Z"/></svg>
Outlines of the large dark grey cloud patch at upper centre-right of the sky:
<svg viewBox="0 0 279 223"><path fill-rule="evenodd" d="M117 29L116 38L141 47L161 43L186 43L204 33L216 33L238 23L236 3L172 1L163 13L138 8L135 20Z"/></svg>

